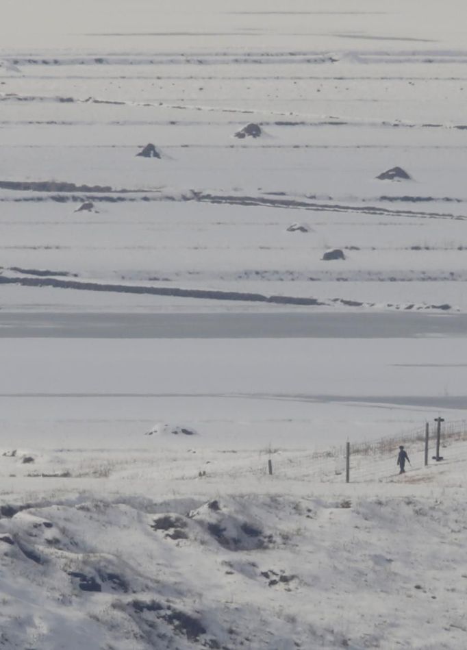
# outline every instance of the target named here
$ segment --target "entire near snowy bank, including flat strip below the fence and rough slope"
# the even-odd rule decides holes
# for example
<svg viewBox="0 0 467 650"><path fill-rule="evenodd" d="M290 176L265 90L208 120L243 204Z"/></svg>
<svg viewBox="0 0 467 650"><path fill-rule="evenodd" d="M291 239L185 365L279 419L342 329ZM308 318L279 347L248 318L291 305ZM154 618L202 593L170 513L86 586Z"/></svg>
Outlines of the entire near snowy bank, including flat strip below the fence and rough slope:
<svg viewBox="0 0 467 650"><path fill-rule="evenodd" d="M349 485L299 453L270 476L253 452L63 451L60 473L10 450L0 647L462 650L467 447L427 468L414 449Z"/></svg>

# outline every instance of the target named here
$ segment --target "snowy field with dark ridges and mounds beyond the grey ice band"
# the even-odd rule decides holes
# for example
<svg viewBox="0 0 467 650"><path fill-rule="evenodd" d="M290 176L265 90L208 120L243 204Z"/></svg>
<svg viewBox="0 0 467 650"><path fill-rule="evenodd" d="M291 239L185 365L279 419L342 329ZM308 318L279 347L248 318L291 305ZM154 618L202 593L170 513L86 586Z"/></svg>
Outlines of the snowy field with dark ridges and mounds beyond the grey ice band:
<svg viewBox="0 0 467 650"><path fill-rule="evenodd" d="M253 4L139 0L129 21L122 1L92 3L90 20L49 0L56 18L33 36L8 3L3 276L466 310L462 3L442 21L432 2ZM234 138L248 122L262 136ZM147 142L160 160L136 157ZM376 178L394 166L411 179ZM323 261L336 247L346 259ZM44 294L18 289L12 307Z"/></svg>

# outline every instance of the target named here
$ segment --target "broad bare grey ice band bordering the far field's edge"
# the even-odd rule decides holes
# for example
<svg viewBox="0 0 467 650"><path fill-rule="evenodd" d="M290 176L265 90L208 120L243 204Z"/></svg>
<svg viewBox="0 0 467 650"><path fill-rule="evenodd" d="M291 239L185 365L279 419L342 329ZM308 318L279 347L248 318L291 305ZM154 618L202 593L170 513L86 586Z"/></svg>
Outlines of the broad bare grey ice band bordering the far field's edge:
<svg viewBox="0 0 467 650"><path fill-rule="evenodd" d="M0 312L0 338L419 338L466 334L467 314Z"/></svg>

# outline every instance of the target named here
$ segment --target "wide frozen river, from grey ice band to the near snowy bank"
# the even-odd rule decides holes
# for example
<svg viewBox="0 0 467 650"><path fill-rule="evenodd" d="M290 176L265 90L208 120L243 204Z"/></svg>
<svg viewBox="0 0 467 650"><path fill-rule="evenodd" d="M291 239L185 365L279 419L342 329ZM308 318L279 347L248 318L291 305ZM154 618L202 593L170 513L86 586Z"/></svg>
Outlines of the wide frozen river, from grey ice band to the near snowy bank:
<svg viewBox="0 0 467 650"><path fill-rule="evenodd" d="M466 332L467 314L0 311L3 437L134 447L181 422L221 448L379 438L464 418Z"/></svg>

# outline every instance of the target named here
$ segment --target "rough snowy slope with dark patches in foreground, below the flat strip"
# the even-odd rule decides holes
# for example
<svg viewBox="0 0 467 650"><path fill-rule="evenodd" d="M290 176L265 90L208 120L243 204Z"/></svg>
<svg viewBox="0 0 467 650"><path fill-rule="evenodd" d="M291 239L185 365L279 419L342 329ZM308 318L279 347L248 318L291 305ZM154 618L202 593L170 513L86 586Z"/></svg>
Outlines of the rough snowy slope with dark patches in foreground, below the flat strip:
<svg viewBox="0 0 467 650"><path fill-rule="evenodd" d="M3 647L391 650L417 629L447 648L433 599L464 648L462 491L381 490L25 506L0 518ZM357 625L342 628L343 606Z"/></svg>

